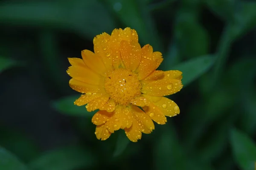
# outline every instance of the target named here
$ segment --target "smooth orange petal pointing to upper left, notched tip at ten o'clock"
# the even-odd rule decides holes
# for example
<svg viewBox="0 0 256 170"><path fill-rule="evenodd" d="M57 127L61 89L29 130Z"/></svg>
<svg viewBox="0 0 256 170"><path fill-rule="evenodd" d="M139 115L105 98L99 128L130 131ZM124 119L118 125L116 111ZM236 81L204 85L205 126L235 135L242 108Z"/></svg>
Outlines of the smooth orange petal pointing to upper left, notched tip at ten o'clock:
<svg viewBox="0 0 256 170"><path fill-rule="evenodd" d="M81 51L82 58L84 60L84 63L93 71L96 73L102 75L103 77L106 77L106 68L105 65L102 62L102 59L94 54L92 51L89 50L83 50Z"/></svg>

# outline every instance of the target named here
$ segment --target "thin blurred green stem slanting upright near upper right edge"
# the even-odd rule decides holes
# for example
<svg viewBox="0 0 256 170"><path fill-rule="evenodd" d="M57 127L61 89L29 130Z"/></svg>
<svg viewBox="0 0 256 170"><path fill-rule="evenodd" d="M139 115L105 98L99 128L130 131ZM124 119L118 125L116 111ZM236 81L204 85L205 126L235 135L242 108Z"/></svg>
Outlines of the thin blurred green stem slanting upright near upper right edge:
<svg viewBox="0 0 256 170"><path fill-rule="evenodd" d="M216 61L215 61L215 67L213 68L213 83L212 86L215 87L215 85L218 84L218 80L221 77L221 74L224 71L224 65L227 61L228 54L230 52L230 47L232 44L233 37L232 35L232 29L231 25L227 24L227 26L224 28L223 34L221 36L221 40L218 44L217 52L216 52Z"/></svg>

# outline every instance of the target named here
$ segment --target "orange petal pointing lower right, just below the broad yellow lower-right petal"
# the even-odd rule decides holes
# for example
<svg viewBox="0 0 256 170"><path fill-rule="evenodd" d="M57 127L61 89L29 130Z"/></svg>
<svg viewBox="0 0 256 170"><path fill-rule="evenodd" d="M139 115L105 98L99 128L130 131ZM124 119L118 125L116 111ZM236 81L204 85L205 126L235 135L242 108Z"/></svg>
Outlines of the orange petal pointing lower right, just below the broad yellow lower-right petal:
<svg viewBox="0 0 256 170"><path fill-rule="evenodd" d="M145 97L147 98L146 95L145 95ZM149 100L150 100L150 98L149 98ZM150 118L152 120L157 122L157 124L164 125L167 122L166 116L164 116L164 114L160 110L160 108L158 108L156 105L154 105L153 102L151 102L148 106L143 107L143 111L145 111L145 113L147 113L147 115L150 116Z"/></svg>

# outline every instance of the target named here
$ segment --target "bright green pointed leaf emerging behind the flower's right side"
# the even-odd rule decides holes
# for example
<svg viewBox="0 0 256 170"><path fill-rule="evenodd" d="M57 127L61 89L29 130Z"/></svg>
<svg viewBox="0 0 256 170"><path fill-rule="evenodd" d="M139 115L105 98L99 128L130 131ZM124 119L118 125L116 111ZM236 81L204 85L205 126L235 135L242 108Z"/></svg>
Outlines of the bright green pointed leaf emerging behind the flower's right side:
<svg viewBox="0 0 256 170"><path fill-rule="evenodd" d="M208 71L214 61L214 56L206 55L175 65L172 70L179 70L183 72L182 83L186 86Z"/></svg>

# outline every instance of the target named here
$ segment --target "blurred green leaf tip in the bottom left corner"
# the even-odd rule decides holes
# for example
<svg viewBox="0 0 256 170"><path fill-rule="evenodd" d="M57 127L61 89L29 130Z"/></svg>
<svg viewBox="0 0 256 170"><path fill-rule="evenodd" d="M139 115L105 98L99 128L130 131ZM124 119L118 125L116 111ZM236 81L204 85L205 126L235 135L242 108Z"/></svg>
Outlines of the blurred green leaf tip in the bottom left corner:
<svg viewBox="0 0 256 170"><path fill-rule="evenodd" d="M0 147L0 170L27 170L27 168L16 156Z"/></svg>

